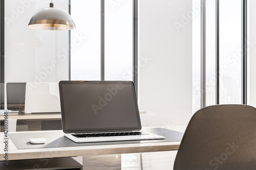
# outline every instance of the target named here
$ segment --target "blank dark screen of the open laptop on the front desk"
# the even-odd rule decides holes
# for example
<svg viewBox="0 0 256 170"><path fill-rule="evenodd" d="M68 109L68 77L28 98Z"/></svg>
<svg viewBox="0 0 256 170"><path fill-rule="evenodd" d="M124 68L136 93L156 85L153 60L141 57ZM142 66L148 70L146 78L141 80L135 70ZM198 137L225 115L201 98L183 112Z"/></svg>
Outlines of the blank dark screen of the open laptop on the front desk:
<svg viewBox="0 0 256 170"><path fill-rule="evenodd" d="M61 81L59 87L64 132L141 128L133 82Z"/></svg>

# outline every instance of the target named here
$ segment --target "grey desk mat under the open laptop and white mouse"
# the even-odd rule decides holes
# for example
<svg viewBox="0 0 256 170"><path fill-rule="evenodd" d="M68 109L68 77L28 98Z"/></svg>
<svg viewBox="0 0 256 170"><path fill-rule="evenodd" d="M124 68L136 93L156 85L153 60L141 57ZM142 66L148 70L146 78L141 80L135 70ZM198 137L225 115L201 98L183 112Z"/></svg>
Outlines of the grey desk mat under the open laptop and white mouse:
<svg viewBox="0 0 256 170"><path fill-rule="evenodd" d="M10 133L9 137L17 147L17 149L39 149L39 148L58 148L58 147L79 147L90 145L107 145L107 144L130 144L130 143L150 143L150 142L170 142L181 141L183 133L167 130L163 128L148 128L143 130L165 136L165 139L153 140L129 140L129 141L108 141L108 142L90 142L90 143L75 143L67 137L63 136L62 131L56 132L41 132L35 133L30 131L28 133ZM46 138L45 144L31 144L30 138Z"/></svg>

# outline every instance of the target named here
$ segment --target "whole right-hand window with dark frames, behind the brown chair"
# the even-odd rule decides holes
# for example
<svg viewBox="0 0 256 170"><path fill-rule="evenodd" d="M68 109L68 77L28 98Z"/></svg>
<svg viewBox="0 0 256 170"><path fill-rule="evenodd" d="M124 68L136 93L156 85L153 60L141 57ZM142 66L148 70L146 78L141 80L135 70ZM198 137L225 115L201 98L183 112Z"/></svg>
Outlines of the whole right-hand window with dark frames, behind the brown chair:
<svg viewBox="0 0 256 170"><path fill-rule="evenodd" d="M205 75L205 78L202 76L200 78L200 85L205 83L205 89L200 89L200 99L205 102L205 105L201 103L201 107L215 104L246 104L243 99L247 94L245 79L247 63L242 62L246 58L246 54L242 53L246 41L246 32L242 29L246 28L244 23L246 15L243 13L247 9L243 6L246 1L195 0L194 3L196 2L204 4L201 6L200 25L198 17L193 20L195 25L193 38L197 40L195 42L198 44L198 30L201 27L203 28L201 37L205 36L205 41L201 41L200 47L201 52L205 50L205 56L201 58L201 62L204 63L205 60L205 63L200 66L201 75ZM193 51L198 50L199 46L194 45ZM193 53L193 60L196 59L198 53ZM193 75L198 77L196 70ZM193 82L196 80L194 77ZM198 83L196 87L193 88L198 89ZM197 101L195 99L198 99L198 93L197 90L194 101ZM194 107L194 111L196 109L198 108Z"/></svg>

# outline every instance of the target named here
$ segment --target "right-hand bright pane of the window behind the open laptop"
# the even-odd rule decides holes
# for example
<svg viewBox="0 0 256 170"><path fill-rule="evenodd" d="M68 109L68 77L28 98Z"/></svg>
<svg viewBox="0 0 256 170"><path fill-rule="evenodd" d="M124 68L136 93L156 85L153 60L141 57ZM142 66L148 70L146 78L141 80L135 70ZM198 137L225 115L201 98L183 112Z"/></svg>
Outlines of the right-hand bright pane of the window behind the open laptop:
<svg viewBox="0 0 256 170"><path fill-rule="evenodd" d="M133 80L133 1L105 1L105 80Z"/></svg>

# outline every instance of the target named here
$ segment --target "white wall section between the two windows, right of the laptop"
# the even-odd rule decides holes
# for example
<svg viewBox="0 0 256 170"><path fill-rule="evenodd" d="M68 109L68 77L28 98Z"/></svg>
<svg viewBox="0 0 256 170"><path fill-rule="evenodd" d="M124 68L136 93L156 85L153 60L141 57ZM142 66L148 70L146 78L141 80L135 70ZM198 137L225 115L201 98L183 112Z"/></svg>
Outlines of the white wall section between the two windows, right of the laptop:
<svg viewBox="0 0 256 170"><path fill-rule="evenodd" d="M187 125L192 115L192 0L139 1L142 124ZM176 26L177 27L176 27ZM177 29L178 28L178 29Z"/></svg>

